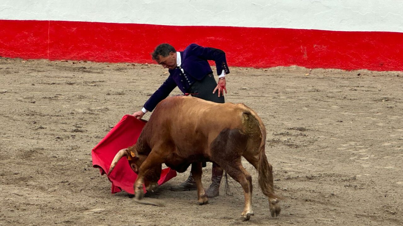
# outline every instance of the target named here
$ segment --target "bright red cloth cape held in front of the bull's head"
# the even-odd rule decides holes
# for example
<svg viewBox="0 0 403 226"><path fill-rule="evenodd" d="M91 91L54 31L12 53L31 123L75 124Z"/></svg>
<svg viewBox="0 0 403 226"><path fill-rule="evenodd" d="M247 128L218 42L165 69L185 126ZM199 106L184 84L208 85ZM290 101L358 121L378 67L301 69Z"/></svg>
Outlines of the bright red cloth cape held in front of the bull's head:
<svg viewBox="0 0 403 226"><path fill-rule="evenodd" d="M101 175L106 174L116 153L135 144L144 125L144 121L137 119L133 115L123 116L104 139L92 149L92 166L100 168ZM171 168L162 169L158 185L162 185L171 178L176 177L176 175L176 171ZM117 193L124 190L127 193L134 194L133 184L136 178L137 174L129 166L127 158L121 158L108 176L109 181L112 182L111 192Z"/></svg>

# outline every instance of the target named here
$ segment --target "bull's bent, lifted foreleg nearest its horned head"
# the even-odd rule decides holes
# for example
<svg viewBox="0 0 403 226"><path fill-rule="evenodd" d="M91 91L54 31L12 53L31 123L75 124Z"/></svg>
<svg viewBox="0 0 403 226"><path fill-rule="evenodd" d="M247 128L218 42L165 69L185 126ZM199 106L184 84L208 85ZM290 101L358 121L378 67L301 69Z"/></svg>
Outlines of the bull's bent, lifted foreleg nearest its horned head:
<svg viewBox="0 0 403 226"><path fill-rule="evenodd" d="M160 166L162 163L163 160L161 156L155 154L155 152L150 152L150 154L144 160L143 164L141 164L139 168L139 175L137 175L137 179L133 186L135 198L137 200L142 199L144 196L143 183L145 176L148 175L149 173L152 173L152 171L154 171L156 166Z"/></svg>

